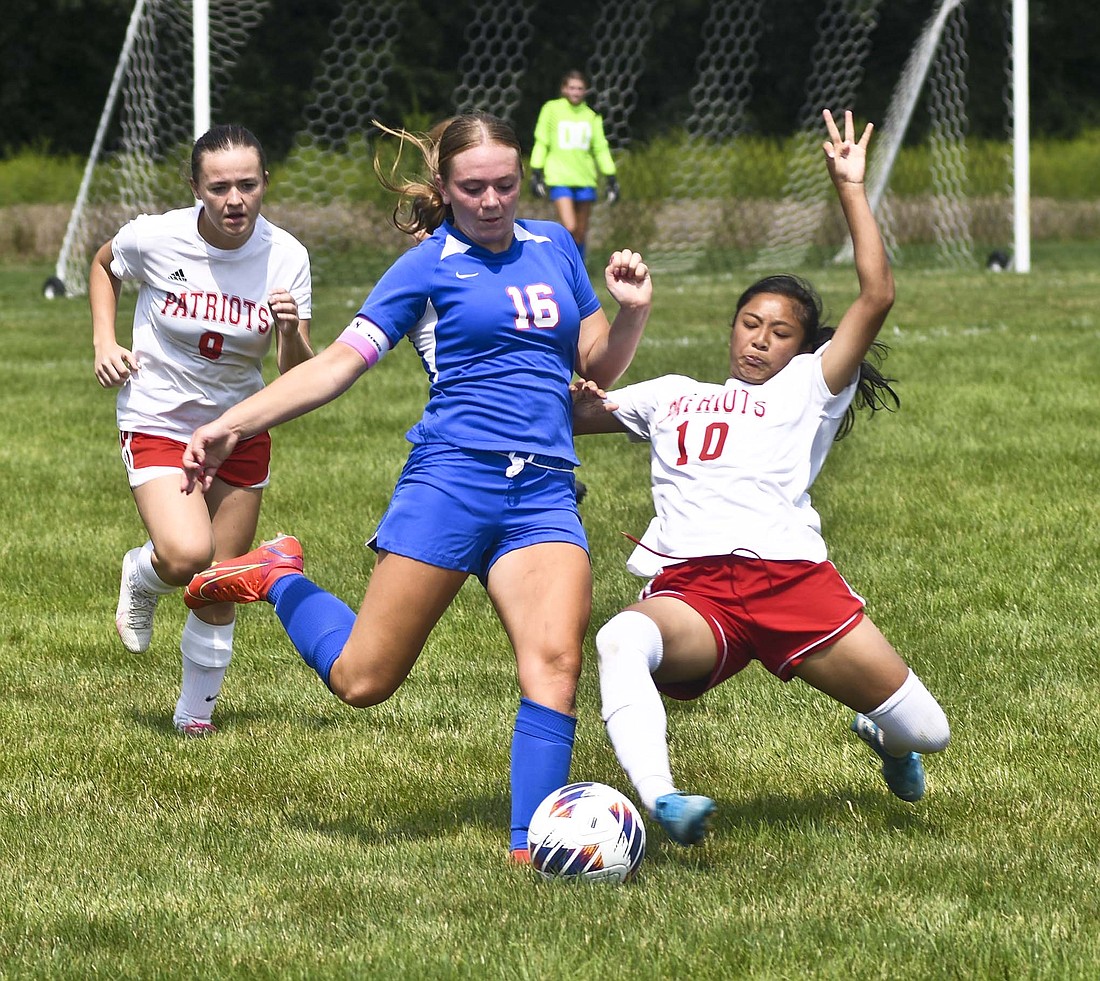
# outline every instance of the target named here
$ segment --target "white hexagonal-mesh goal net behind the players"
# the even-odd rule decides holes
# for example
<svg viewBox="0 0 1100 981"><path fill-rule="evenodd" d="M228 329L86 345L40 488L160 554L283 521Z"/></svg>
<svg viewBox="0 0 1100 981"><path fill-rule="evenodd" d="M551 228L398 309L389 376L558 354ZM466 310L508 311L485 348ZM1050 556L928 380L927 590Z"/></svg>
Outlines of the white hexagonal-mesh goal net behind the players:
<svg viewBox="0 0 1100 981"><path fill-rule="evenodd" d="M664 90L671 74L661 43L662 32L682 29L681 12L658 0L636 0L630 16L623 16L614 0L593 4L585 54L572 64L587 70L591 101L604 118L624 186L619 205L594 209L593 247L630 244L670 268L690 268L713 251L728 250L752 266L845 257L838 252L843 225L823 179L820 112L825 106L853 107L866 118L862 104L886 102L879 92L866 91L865 66L889 4L795 4L802 16L809 5L815 19L792 25L784 23L793 16L788 0L711 0L691 24L697 32L694 64L691 71L676 73L688 78L676 82L685 85L676 92ZM209 0L216 122L250 125L231 96L249 85L238 66L273 15L282 12L284 25L297 23L292 18L323 18L302 34L314 66L308 91L296 91L295 100L285 91L271 97L288 110L294 102L294 112L279 117L286 141L272 166L277 179L264 209L309 247L318 282L342 253L364 245L397 250L406 242L387 221L393 202L380 194L373 175L371 119L428 129L444 115L477 108L514 122L534 120L538 104L556 93L546 91L547 70L534 78L531 68L556 57L546 4L515 0L507 18L493 0L457 0L455 7L461 18L450 27L437 25L446 36L429 38L424 32L436 22L411 0L331 0L298 4L293 14L284 10L286 0ZM788 31L784 37L792 31L804 36L806 49L783 65L803 76L802 96L800 106L784 110L790 123L776 166L777 140L759 132L761 120L774 114L768 102L773 93L758 76L761 64L773 62L776 48L783 47L774 36L780 27ZM419 33L410 37L414 30ZM950 265L976 263L974 242L1003 242L1011 227L1003 194L989 199L994 207L970 190L966 34L961 0L928 0L928 20L920 36L906 42L911 56L878 122L872 156L873 203L890 245L926 241L937 261ZM410 49L432 53L432 91L424 90L424 82L419 91L407 91ZM787 48L780 54L788 56ZM559 63L550 84L572 64ZM191 76L190 0L138 0L47 295L84 293L91 255L129 218L190 203ZM639 125L639 106L651 108L658 97L671 107L661 125L654 126L652 111ZM917 112L927 173L920 194L902 197L894 194L892 164ZM517 131L529 142L518 122ZM270 148L262 133L261 139ZM649 163L648 175L631 180L631 162L651 159L660 145L669 165ZM770 154L761 156L761 147ZM1008 183L1005 176L1002 189ZM522 212L553 213L541 201L525 201ZM976 220L986 225L977 234Z"/></svg>

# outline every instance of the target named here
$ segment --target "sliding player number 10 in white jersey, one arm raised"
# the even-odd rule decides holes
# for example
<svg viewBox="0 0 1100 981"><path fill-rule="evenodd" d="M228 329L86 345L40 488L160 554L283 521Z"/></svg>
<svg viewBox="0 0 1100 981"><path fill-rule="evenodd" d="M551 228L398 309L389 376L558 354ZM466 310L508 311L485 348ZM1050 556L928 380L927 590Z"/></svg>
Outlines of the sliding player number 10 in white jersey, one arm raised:
<svg viewBox="0 0 1100 981"><path fill-rule="evenodd" d="M894 299L890 263L864 190L872 126L844 135L825 110L825 166L855 246L859 295L836 328L789 275L737 301L724 385L664 375L606 394L575 392L578 433L650 444L657 517L628 567L652 576L640 602L596 636L602 714L641 802L681 845L714 817L710 797L672 779L661 693L696 698L758 660L856 713L890 790L919 801L920 753L947 746L943 709L864 613L827 560L809 488L856 408L898 404L868 355Z"/></svg>

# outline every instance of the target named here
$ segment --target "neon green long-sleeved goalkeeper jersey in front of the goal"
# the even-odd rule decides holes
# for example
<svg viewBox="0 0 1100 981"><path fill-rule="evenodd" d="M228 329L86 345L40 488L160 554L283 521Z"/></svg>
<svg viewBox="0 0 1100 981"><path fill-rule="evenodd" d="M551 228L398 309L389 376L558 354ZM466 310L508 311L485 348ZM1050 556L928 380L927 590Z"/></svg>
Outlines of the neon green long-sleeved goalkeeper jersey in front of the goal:
<svg viewBox="0 0 1100 981"><path fill-rule="evenodd" d="M600 113L582 102L551 99L535 124L531 169L542 170L550 187L596 187L597 173L615 173Z"/></svg>

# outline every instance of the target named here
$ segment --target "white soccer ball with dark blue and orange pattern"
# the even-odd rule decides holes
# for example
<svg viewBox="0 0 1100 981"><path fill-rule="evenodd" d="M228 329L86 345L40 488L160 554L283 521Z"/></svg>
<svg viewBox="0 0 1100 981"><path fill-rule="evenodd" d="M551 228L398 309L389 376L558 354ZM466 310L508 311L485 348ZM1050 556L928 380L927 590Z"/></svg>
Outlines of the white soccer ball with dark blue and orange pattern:
<svg viewBox="0 0 1100 981"><path fill-rule="evenodd" d="M543 879L626 882L646 855L646 826L615 787L570 783L539 804L527 841Z"/></svg>

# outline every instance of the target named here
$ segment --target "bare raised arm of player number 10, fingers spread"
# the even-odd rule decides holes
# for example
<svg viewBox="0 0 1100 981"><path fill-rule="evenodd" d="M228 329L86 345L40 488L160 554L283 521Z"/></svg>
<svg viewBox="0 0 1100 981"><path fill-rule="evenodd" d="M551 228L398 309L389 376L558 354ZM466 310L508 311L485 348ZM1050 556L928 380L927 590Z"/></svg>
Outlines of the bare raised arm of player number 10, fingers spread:
<svg viewBox="0 0 1100 981"><path fill-rule="evenodd" d="M822 144L825 166L848 224L859 278L859 296L840 318L833 342L822 355L825 384L838 393L851 381L886 322L893 306L894 280L865 185L867 148L875 126L868 123L857 141L850 111L844 113L843 136L833 113L825 109L822 115L828 132Z"/></svg>

